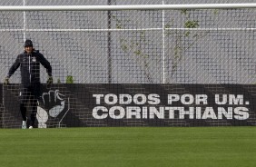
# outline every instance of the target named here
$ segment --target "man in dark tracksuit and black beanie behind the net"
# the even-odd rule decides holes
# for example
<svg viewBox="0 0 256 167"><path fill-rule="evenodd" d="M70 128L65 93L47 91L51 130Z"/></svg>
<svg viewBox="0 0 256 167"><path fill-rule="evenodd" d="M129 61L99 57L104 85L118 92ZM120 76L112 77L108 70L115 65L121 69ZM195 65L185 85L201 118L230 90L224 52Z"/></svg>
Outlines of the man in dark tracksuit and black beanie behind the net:
<svg viewBox="0 0 256 167"><path fill-rule="evenodd" d="M44 58L43 54L35 51L31 40L25 41L25 52L19 54L5 77L5 85L9 83L9 78L15 73L18 67L21 70L21 102L20 112L22 114L22 129L26 129L26 104L31 103L31 123L29 129L33 129L37 112L37 100L40 96L40 64L46 68L48 74L47 83L53 83L52 66Z"/></svg>

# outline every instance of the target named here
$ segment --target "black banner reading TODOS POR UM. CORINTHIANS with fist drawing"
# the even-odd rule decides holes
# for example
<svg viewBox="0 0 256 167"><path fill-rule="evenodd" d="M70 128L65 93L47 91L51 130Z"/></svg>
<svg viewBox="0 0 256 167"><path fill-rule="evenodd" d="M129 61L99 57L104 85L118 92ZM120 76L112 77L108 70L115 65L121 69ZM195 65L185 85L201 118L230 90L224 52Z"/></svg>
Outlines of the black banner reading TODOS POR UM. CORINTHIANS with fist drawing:
<svg viewBox="0 0 256 167"><path fill-rule="evenodd" d="M19 90L4 86L3 127L20 127ZM37 124L254 126L255 92L246 84L43 84Z"/></svg>

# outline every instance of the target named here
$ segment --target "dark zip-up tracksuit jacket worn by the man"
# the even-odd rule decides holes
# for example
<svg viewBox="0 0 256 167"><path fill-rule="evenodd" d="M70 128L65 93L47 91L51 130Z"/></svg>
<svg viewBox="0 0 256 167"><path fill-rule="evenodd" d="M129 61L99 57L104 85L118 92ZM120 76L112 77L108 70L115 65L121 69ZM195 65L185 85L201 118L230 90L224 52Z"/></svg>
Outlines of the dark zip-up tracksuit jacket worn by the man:
<svg viewBox="0 0 256 167"><path fill-rule="evenodd" d="M32 93L35 98L39 97L40 92L40 64L46 68L49 76L52 76L52 66L44 58L43 54L38 51L33 51L32 54L19 54L9 70L8 77L15 73L18 67L21 70L21 96L27 96L27 92ZM26 92L26 93L23 93Z"/></svg>

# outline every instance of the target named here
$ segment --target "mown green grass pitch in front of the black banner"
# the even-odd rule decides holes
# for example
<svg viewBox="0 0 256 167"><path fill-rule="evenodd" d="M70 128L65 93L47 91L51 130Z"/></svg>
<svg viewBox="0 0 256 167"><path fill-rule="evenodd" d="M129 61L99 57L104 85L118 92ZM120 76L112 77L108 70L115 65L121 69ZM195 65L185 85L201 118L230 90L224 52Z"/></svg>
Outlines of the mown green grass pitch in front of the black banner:
<svg viewBox="0 0 256 167"><path fill-rule="evenodd" d="M246 167L256 127L0 129L0 166Z"/></svg>

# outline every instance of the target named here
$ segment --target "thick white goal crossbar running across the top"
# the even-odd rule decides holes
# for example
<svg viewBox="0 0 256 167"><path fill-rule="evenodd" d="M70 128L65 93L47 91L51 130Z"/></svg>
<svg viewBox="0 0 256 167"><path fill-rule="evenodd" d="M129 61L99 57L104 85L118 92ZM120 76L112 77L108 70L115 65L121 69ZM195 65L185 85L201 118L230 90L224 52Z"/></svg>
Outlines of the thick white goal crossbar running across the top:
<svg viewBox="0 0 256 167"><path fill-rule="evenodd" d="M246 4L197 4L197 5L29 5L0 6L0 11L106 11L106 10L180 10L180 9L229 9L255 8L256 3Z"/></svg>

